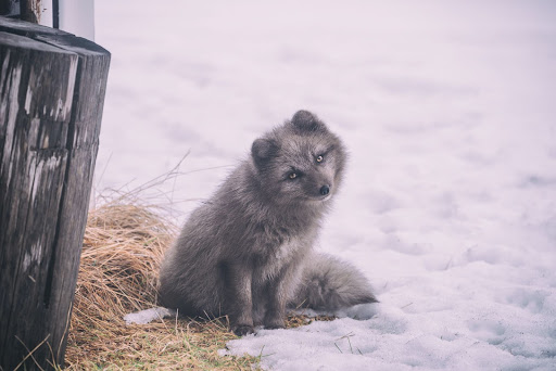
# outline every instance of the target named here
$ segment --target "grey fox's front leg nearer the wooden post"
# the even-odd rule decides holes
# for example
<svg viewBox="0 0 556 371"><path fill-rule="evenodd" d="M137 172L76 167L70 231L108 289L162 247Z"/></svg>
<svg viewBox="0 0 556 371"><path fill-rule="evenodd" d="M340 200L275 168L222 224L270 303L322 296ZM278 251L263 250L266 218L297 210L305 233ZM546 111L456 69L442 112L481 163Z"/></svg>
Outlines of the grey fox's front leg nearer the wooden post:
<svg viewBox="0 0 556 371"><path fill-rule="evenodd" d="M227 261L222 267L226 286L225 309L230 318L231 331L238 336L253 333L251 293L253 272L237 261Z"/></svg>

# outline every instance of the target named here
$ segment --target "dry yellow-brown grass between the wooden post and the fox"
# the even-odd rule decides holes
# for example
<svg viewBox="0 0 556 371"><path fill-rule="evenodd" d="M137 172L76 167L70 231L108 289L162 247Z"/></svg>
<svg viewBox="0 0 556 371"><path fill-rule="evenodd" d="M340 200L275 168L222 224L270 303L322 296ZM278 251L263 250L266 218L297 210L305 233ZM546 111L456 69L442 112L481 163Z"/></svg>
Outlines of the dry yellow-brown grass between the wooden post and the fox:
<svg viewBox="0 0 556 371"><path fill-rule="evenodd" d="M219 357L237 338L227 319L165 319L126 325L123 317L156 306L156 278L175 226L137 192L89 213L65 361L70 370L252 370L257 357ZM329 320L330 318L317 318ZM288 327L312 322L291 316Z"/></svg>

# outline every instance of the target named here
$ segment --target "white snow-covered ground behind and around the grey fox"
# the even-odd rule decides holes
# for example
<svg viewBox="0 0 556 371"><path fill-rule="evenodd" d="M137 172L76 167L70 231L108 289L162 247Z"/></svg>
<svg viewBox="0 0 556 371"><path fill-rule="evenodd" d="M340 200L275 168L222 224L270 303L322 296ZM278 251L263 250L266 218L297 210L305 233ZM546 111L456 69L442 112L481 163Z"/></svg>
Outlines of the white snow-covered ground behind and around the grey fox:
<svg viewBox="0 0 556 371"><path fill-rule="evenodd" d="M311 110L351 153L318 248L381 304L228 351L283 370L556 370L555 20L549 0L97 0L112 65L96 187L189 152L163 189L182 222L257 136Z"/></svg>

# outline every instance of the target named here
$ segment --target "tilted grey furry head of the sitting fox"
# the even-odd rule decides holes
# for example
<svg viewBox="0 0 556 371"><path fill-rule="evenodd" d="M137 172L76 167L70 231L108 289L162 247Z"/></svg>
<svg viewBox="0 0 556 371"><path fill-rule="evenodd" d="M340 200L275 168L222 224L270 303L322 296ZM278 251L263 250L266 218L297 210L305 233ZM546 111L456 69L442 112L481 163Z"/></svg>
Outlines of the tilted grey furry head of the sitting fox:
<svg viewBox="0 0 556 371"><path fill-rule="evenodd" d="M276 203L325 202L340 184L345 150L307 111L256 139L251 156L262 191Z"/></svg>

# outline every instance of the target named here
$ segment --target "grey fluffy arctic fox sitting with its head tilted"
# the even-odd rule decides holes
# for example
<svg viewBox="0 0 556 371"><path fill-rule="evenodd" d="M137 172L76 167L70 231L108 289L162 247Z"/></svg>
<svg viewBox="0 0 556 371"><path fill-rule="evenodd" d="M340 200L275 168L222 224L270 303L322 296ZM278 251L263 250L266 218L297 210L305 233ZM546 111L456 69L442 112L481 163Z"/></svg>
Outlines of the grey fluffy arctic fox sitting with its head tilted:
<svg viewBox="0 0 556 371"><path fill-rule="evenodd" d="M228 315L238 335L283 328L287 307L377 302L351 265L312 252L345 166L345 149L307 111L256 139L166 253L161 304L187 316Z"/></svg>

